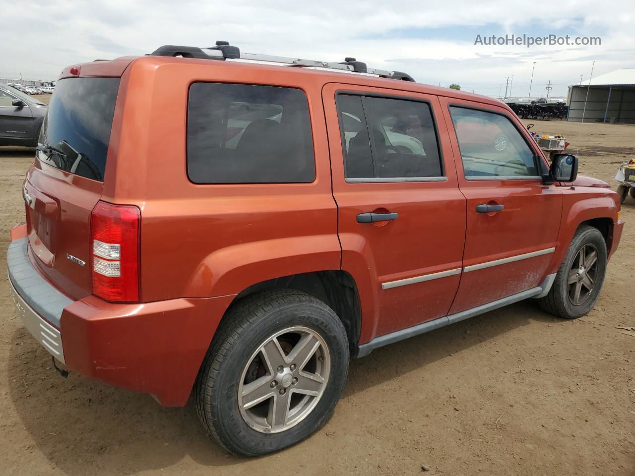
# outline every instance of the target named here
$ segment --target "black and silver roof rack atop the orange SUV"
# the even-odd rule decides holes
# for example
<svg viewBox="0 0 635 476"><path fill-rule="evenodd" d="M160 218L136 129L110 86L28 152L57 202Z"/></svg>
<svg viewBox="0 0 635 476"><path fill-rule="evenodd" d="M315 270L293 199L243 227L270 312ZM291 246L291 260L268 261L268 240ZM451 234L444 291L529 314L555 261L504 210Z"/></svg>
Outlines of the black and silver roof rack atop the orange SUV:
<svg viewBox="0 0 635 476"><path fill-rule="evenodd" d="M204 51L205 50L205 51ZM415 81L410 74L401 71L389 71L384 69L368 68L366 63L355 58L345 58L344 62L326 62L316 60L303 60L302 58L288 58L286 56L258 55L255 53L241 53L237 46L231 46L227 41L217 41L216 46L197 48L196 46L177 46L167 44L157 48L150 56L183 56L184 58L198 58L203 60L252 60L272 63L283 63L302 68L328 68L340 71L375 74L389 79L402 81Z"/></svg>

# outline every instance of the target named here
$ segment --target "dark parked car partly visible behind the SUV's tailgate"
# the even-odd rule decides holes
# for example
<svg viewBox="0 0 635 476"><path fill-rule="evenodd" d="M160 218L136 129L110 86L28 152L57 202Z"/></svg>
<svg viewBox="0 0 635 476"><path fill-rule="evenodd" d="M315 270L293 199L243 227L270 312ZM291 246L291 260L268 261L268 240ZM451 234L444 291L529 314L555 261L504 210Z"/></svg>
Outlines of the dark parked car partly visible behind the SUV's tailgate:
<svg viewBox="0 0 635 476"><path fill-rule="evenodd" d="M0 145L36 147L48 106L0 84Z"/></svg>

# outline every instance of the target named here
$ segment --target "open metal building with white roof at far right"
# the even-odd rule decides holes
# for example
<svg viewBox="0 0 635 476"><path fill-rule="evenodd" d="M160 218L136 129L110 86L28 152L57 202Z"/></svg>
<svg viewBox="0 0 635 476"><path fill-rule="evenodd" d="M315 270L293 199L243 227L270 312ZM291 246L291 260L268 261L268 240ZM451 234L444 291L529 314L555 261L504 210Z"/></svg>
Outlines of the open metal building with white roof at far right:
<svg viewBox="0 0 635 476"><path fill-rule="evenodd" d="M570 86L567 103L569 121L582 121L584 111L584 122L635 124L635 68L594 77L590 86L588 79Z"/></svg>

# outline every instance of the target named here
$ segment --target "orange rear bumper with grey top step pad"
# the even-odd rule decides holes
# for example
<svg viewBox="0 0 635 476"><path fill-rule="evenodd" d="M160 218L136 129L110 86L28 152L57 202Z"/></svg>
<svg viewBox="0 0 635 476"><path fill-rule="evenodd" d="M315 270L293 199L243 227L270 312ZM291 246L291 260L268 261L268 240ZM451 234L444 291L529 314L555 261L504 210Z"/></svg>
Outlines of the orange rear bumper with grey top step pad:
<svg viewBox="0 0 635 476"><path fill-rule="evenodd" d="M25 327L46 350L81 374L150 393L164 406L184 406L234 295L138 304L95 296L72 301L37 272L27 242L11 242L10 288Z"/></svg>

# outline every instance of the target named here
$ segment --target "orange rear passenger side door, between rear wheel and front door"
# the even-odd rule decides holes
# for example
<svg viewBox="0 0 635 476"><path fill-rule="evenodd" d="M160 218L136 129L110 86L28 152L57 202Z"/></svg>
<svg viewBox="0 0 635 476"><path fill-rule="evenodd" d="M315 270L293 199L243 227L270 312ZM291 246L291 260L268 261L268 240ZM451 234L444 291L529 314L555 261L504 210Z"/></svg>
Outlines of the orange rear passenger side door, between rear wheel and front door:
<svg viewBox="0 0 635 476"><path fill-rule="evenodd" d="M323 101L361 343L445 316L460 281L465 197L438 98L327 84Z"/></svg>

